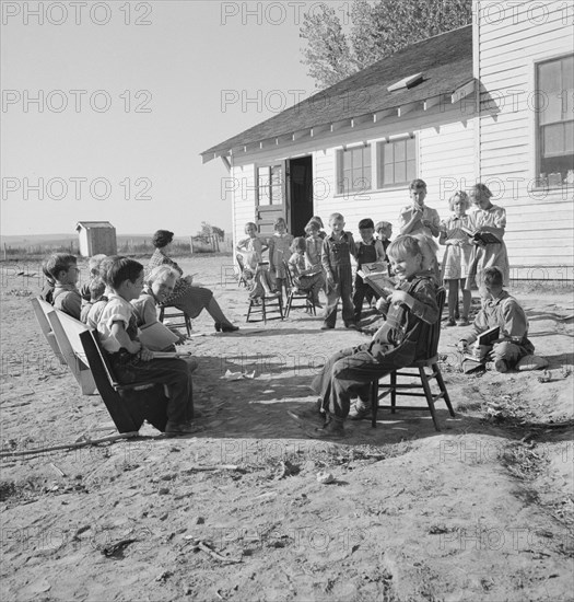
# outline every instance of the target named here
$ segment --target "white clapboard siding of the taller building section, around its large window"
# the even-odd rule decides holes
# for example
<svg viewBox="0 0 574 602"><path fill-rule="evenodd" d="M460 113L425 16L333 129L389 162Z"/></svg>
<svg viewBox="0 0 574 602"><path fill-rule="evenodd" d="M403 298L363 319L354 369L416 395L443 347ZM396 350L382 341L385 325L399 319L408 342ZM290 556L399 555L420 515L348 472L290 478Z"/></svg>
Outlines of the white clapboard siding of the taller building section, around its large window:
<svg viewBox="0 0 574 602"><path fill-rule="evenodd" d="M480 2L480 9L492 2ZM480 11L475 26L478 36L478 72L481 116L477 121L479 176L495 193L493 201L506 208L505 242L511 265L572 265L574 255L574 188L546 194L535 186L535 66L537 61L573 51L574 10L565 2L497 2L504 18L496 21ZM516 8L513 9L513 5ZM548 11L544 23L537 23ZM502 13L500 13L502 14ZM535 19L529 19L535 16ZM572 275L572 270L570 270Z"/></svg>

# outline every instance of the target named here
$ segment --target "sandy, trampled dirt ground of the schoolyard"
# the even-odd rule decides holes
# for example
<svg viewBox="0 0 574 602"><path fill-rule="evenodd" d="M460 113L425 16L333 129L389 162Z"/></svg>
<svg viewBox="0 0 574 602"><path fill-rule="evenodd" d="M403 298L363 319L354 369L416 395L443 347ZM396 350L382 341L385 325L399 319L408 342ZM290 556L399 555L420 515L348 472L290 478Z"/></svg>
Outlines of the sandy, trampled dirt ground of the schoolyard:
<svg viewBox="0 0 574 602"><path fill-rule="evenodd" d="M194 321L202 430L166 439L145 426L74 451L42 450L114 427L52 358L28 300L39 280L2 266L2 452L37 450L1 459L2 600L572 600L569 286L511 290L549 381L464 375L462 329L444 328L456 418L440 403L436 432L427 412L385 409L376 429L349 422L330 443L288 410L312 415L313 374L364 335L320 332L303 310L247 325L229 257L179 263L242 328ZM225 381L226 370L255 378Z"/></svg>

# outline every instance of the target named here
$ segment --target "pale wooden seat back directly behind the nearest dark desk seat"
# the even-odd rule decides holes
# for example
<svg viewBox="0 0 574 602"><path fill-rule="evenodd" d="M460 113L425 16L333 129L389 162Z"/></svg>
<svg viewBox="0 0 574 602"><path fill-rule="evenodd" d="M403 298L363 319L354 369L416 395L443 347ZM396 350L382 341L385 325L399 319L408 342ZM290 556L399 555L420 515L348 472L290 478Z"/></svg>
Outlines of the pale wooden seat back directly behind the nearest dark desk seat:
<svg viewBox="0 0 574 602"><path fill-rule="evenodd" d="M54 308L48 313L48 321L63 359L80 385L82 395L93 395L96 385L80 343L80 333L86 331L87 326Z"/></svg>

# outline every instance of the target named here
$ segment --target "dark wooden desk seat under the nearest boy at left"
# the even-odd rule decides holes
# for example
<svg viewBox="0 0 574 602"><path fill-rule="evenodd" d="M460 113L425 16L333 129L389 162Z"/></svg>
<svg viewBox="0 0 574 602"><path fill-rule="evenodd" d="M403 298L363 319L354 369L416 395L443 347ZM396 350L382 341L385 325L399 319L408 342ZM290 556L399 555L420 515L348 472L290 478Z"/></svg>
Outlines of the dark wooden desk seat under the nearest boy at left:
<svg viewBox="0 0 574 602"><path fill-rule="evenodd" d="M165 431L167 397L164 386L151 382L119 384L97 332L85 329L80 333L80 340L97 391L118 431L138 431L143 420Z"/></svg>

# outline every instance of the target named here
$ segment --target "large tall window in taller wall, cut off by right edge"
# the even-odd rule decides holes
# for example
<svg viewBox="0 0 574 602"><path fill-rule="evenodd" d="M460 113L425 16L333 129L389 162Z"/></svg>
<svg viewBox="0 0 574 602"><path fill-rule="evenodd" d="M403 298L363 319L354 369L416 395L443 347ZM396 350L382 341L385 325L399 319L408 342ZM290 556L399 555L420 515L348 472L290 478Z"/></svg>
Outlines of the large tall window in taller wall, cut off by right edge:
<svg viewBox="0 0 574 602"><path fill-rule="evenodd" d="M538 183L562 186L574 177L574 55L536 69Z"/></svg>

